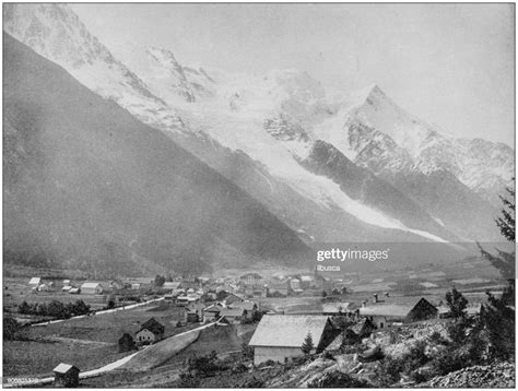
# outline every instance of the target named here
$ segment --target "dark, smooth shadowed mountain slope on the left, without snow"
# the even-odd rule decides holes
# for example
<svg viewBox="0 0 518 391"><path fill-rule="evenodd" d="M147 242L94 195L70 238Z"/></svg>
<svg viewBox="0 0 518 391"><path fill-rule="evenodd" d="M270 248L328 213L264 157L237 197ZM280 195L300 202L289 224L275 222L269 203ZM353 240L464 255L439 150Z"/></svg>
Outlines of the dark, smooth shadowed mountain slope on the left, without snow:
<svg viewBox="0 0 518 391"><path fill-rule="evenodd" d="M304 262L295 233L232 181L14 38L3 43L5 262L196 272L220 242Z"/></svg>

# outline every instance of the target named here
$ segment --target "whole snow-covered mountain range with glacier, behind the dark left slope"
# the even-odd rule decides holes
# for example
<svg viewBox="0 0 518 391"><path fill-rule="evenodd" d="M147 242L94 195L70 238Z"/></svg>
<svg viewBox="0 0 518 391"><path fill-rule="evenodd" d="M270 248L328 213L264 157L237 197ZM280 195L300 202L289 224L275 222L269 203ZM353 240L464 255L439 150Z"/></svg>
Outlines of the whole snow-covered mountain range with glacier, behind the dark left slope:
<svg viewBox="0 0 518 391"><path fill-rule="evenodd" d="M63 4L7 4L4 28L306 241L499 239L493 218L510 147L449 137L377 86L328 96L298 70L229 74L183 66L163 48L108 50Z"/></svg>

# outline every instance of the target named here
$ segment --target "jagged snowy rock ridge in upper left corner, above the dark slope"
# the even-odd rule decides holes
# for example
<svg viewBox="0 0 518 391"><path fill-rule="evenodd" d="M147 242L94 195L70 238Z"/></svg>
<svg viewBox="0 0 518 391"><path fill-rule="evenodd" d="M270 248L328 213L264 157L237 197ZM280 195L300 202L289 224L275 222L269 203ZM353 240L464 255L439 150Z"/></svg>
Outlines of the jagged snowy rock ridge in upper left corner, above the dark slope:
<svg viewBox="0 0 518 391"><path fill-rule="evenodd" d="M79 82L115 100L145 123L183 127L175 109L89 33L67 4L7 3L3 28L39 55L67 69Z"/></svg>

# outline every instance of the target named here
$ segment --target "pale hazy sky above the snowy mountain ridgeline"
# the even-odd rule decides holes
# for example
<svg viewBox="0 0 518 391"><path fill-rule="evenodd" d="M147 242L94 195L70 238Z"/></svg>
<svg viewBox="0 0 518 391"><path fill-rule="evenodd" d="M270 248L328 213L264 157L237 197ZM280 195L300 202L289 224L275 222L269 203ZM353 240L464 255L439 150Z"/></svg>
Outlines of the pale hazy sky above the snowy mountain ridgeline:
<svg viewBox="0 0 518 391"><path fill-rule="evenodd" d="M451 134L514 145L514 4L73 4L108 46L184 64L306 70L327 87L376 83Z"/></svg>

